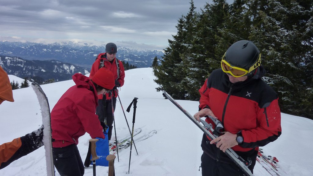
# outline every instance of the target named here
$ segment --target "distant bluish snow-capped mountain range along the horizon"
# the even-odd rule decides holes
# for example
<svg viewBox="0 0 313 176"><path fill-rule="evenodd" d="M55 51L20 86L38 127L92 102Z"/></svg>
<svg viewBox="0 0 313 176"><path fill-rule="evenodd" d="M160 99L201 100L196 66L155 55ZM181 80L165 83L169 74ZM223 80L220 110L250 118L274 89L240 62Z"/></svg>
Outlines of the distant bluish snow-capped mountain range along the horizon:
<svg viewBox="0 0 313 176"><path fill-rule="evenodd" d="M99 53L105 52L105 44L84 41L47 41L35 42L22 39L7 40L0 36L0 55L21 57L26 60L59 60L86 68L90 68ZM144 49L118 45L116 57L137 68L150 67L155 57L161 59L162 49Z"/></svg>

